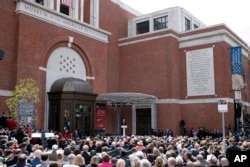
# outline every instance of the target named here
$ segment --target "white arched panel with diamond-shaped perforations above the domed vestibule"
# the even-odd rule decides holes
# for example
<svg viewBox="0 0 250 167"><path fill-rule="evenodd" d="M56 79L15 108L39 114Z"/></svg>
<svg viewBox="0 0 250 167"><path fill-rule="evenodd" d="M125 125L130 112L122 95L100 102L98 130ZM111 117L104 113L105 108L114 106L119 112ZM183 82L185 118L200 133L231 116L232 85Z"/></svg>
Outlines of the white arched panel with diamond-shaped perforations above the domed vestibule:
<svg viewBox="0 0 250 167"><path fill-rule="evenodd" d="M70 47L58 47L49 55L46 68L40 67L46 72L46 93L51 91L52 84L61 78L78 78L87 80L87 62L81 55ZM91 74L91 72L89 72ZM44 129L49 129L49 98L45 96Z"/></svg>

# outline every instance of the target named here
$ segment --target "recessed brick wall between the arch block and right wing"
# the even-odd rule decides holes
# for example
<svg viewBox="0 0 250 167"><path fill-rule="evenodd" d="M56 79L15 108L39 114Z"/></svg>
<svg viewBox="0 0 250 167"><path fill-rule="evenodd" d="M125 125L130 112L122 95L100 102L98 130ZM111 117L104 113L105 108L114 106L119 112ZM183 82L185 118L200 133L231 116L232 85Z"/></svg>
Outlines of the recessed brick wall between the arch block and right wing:
<svg viewBox="0 0 250 167"><path fill-rule="evenodd" d="M100 1L100 28L111 32L107 46L107 92L119 91L120 58L117 40L127 36L128 19L132 17L134 15L121 8L119 4L110 0Z"/></svg>

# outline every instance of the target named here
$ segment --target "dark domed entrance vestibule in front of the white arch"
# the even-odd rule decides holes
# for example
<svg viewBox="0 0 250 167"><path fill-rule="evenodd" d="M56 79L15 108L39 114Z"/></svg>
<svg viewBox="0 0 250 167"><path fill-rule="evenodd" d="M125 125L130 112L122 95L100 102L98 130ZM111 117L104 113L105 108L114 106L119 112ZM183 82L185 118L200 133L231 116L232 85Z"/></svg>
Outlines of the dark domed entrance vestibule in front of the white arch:
<svg viewBox="0 0 250 167"><path fill-rule="evenodd" d="M49 129L78 130L82 136L94 135L94 104L97 94L91 85L77 78L55 81L48 93Z"/></svg>

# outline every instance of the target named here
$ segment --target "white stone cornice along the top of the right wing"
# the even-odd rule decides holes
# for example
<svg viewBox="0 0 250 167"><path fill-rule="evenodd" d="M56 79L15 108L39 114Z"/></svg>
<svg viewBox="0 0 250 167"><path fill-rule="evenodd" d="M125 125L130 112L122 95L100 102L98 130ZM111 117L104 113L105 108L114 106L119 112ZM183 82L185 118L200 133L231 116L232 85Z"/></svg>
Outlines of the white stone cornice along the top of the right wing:
<svg viewBox="0 0 250 167"><path fill-rule="evenodd" d="M140 43L165 37L174 37L179 41L179 48L193 47L193 46L205 45L217 42L226 42L230 46L242 46L243 48L242 54L248 58L248 55L250 54L249 47L246 46L244 42L239 40L239 38L235 36L235 34L231 33L230 30L228 30L226 27L217 30L213 29L209 30L210 28L216 28L216 26L179 33L179 36L178 34L176 34L175 31L169 31L170 29L166 29L163 30L162 32L164 31L169 31L169 32L164 35L157 35L158 32L151 32L133 37L121 38L119 39L118 46L131 45L135 43ZM188 33L192 34L189 35Z"/></svg>

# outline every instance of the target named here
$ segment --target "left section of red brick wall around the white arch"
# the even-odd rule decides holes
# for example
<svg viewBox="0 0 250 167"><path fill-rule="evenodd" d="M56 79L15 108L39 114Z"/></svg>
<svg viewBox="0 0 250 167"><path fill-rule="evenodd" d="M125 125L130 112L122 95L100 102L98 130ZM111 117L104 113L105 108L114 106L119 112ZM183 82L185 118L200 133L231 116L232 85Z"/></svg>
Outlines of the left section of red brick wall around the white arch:
<svg viewBox="0 0 250 167"><path fill-rule="evenodd" d="M100 1L99 27L97 31L106 31L108 42L102 42L75 31L49 23L22 12L15 13L16 3L3 0L1 3L1 50L6 52L1 63L0 83L2 94L7 90L8 96L19 79L31 77L37 81L40 88L40 101L37 109L40 113L40 127L44 124L44 113L47 110L46 72L39 67L46 68L50 54L58 47L68 47L69 37L73 37L71 48L79 53L86 65L88 76L95 80L88 80L94 93L118 91L119 89L119 48L117 39L127 35L127 20L134 15L121 8L117 3L109 0ZM90 0L84 3L84 21L90 23ZM37 9L44 8L35 4ZM38 10L37 10L38 11ZM46 10L45 10L46 11ZM116 13L114 15L114 13ZM62 15L62 14L61 14ZM64 15L58 15L62 19ZM6 19L8 18L8 19ZM122 30L122 31L121 31ZM8 111L5 100L8 96L1 96L1 110ZM45 122L46 124L46 122Z"/></svg>

